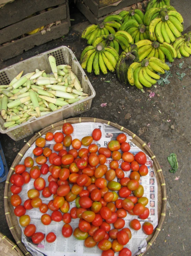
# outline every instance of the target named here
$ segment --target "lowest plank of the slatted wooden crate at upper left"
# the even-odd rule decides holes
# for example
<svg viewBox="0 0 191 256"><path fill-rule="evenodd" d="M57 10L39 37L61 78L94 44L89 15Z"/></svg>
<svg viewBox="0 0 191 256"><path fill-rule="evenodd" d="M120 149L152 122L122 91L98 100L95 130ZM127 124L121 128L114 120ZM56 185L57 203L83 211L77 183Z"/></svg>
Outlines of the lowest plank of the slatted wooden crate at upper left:
<svg viewBox="0 0 191 256"><path fill-rule="evenodd" d="M66 19L66 22L59 24L58 26L51 27L51 30L46 32L45 35L38 32L0 47L0 59L2 61L8 60L23 53L23 51L28 51L36 45L41 45L51 41L52 39L57 39L63 35L66 35L68 32L69 24Z"/></svg>

